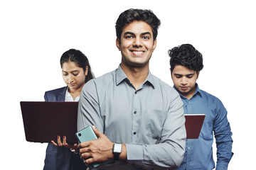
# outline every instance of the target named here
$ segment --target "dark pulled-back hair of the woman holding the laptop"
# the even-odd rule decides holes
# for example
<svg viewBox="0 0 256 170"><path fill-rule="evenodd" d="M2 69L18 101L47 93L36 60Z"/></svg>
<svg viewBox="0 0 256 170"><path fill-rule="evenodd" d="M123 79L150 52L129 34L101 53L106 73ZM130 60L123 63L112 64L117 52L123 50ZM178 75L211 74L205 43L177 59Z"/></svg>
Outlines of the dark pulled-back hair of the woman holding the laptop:
<svg viewBox="0 0 256 170"><path fill-rule="evenodd" d="M89 61L87 57L80 51L75 49L70 49L63 53L60 57L60 67L63 67L63 63L65 62L75 62L75 64L82 68L85 72L86 67L88 67L87 76L85 77L85 83L90 79L94 79L94 74L92 73Z"/></svg>

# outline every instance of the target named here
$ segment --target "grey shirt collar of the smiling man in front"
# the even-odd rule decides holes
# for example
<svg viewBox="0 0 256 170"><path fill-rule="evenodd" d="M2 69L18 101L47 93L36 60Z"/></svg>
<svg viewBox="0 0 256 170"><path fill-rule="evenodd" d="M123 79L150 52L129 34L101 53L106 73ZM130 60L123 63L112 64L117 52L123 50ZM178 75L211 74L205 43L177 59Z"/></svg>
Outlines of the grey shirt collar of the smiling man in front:
<svg viewBox="0 0 256 170"><path fill-rule="evenodd" d="M122 81L129 81L129 79L127 78L127 76L125 75L124 71L121 68L121 65L119 64L119 67L117 68L117 72L116 72L116 83L117 86L122 82ZM146 77L146 80L144 81L143 84L149 83L151 84L151 86L154 88L154 77L151 74L151 72L149 71L148 76Z"/></svg>

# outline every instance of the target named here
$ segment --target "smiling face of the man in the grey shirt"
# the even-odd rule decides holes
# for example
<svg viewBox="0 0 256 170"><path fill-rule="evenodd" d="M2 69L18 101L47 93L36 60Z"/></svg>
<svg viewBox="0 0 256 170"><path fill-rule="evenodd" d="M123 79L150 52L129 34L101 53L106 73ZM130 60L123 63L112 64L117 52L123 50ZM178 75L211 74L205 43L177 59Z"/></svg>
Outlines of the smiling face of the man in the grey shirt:
<svg viewBox="0 0 256 170"><path fill-rule="evenodd" d="M156 48L151 26L144 21L133 21L125 26L116 44L122 53L122 64L127 67L148 67Z"/></svg>

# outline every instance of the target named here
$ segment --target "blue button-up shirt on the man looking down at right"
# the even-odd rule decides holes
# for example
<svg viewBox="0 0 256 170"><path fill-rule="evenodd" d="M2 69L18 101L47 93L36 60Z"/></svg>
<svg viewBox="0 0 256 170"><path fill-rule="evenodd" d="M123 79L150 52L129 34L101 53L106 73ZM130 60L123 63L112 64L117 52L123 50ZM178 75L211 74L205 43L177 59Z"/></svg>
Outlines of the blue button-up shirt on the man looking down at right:
<svg viewBox="0 0 256 170"><path fill-rule="evenodd" d="M174 86L174 89L175 86ZM223 103L215 96L199 89L196 84L196 92L188 100L181 96L184 114L205 114L201 133L196 140L186 140L186 152L181 166L186 170L214 169L213 161L213 132L217 146L216 170L228 169L228 163L233 156L230 124L227 119L227 111Z"/></svg>

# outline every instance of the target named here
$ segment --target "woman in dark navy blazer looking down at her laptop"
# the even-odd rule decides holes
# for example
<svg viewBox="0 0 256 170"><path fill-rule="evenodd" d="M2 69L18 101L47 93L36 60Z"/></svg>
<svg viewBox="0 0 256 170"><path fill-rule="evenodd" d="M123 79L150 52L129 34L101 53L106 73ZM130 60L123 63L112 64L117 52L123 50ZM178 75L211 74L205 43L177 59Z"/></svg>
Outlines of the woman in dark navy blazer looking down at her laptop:
<svg viewBox="0 0 256 170"><path fill-rule="evenodd" d="M60 66L67 86L46 91L45 101L78 101L82 87L94 78L87 57L80 50L70 49L61 56ZM58 136L58 143L52 141L48 144L43 170L85 170L87 168L80 159L80 154L71 151L72 146L65 145L64 141L61 142Z"/></svg>

